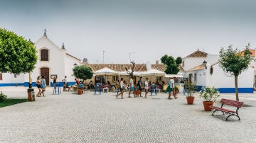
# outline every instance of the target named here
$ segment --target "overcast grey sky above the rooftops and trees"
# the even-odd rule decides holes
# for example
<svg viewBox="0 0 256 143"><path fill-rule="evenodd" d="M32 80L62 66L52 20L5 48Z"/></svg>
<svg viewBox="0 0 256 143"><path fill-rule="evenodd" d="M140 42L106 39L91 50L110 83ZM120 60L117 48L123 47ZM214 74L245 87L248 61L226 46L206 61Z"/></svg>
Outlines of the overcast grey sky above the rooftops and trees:
<svg viewBox="0 0 256 143"><path fill-rule="evenodd" d="M90 63L154 63L197 49L256 46L255 0L0 0L0 26Z"/></svg>

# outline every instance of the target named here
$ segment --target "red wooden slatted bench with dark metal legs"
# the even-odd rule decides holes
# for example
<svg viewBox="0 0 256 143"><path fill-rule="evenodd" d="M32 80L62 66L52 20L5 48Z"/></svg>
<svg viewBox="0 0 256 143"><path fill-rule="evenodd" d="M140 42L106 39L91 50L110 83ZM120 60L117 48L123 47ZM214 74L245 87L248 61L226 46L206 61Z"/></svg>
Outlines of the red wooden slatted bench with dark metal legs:
<svg viewBox="0 0 256 143"><path fill-rule="evenodd" d="M228 118L232 115L235 115L238 117L238 120L240 120L240 117L238 115L238 110L239 108L242 106L242 103L243 102L240 102L240 101L232 101L232 100L229 100L229 99L221 99L220 100L220 103L221 103L221 106L220 107L216 107L216 106L210 106L210 108L214 109L213 111L213 114L216 112L216 111L221 111L224 115L225 114L229 114L228 117L226 118L226 121L228 120ZM233 107L236 107L237 109L236 110L230 110L230 109L227 109L227 108L223 108L223 105L230 105L230 106L233 106ZM213 115L212 114L212 115Z"/></svg>

